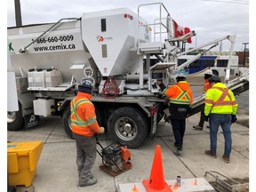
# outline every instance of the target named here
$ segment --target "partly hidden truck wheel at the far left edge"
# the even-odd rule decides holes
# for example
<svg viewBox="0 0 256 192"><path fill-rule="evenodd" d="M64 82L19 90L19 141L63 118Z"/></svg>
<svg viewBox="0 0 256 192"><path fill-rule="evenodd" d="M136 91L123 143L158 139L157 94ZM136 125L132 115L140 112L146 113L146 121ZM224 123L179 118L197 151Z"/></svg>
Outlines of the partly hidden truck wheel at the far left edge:
<svg viewBox="0 0 256 192"><path fill-rule="evenodd" d="M24 126L24 120L19 102L19 111L7 112L7 130L18 131Z"/></svg>

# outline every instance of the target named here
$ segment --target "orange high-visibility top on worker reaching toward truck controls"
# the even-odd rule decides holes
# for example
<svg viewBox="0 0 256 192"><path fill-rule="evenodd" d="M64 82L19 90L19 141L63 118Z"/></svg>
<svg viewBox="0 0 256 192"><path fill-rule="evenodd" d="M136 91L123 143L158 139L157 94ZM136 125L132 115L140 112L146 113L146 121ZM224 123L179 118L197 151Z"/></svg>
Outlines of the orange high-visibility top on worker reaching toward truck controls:
<svg viewBox="0 0 256 192"><path fill-rule="evenodd" d="M165 96L169 97L170 103L191 105L193 102L192 91L186 81L180 81L169 88L165 88L163 93Z"/></svg>

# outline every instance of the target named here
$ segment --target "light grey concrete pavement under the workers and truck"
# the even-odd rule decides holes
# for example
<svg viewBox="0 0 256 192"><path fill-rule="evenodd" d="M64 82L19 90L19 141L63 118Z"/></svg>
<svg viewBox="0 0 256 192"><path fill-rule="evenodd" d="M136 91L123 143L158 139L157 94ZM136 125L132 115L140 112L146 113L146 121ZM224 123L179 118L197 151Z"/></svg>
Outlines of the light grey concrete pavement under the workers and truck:
<svg viewBox="0 0 256 192"><path fill-rule="evenodd" d="M196 88L197 89L197 88ZM199 89L199 88L198 88ZM246 113L237 115L239 118L248 119ZM68 138L61 126L59 117L48 117L41 120L35 128L19 132L7 132L8 141L43 140L44 148L36 167L36 178L33 187L36 192L73 192L73 191L108 191L115 192L116 187L125 183L138 183L148 180L155 154L156 145L161 146L164 167L164 179L174 180L177 175L181 178L212 178L204 177L205 172L216 171L228 178L249 178L249 129L242 124L232 124L233 146L230 164L223 162L221 156L224 150L224 138L221 129L218 133L217 158L204 154L210 148L209 129L204 124L204 131L192 128L199 120L199 114L190 116L187 120L187 130L184 138L183 156L175 156L173 145L174 138L171 124L160 122L156 137L148 139L137 149L130 149L132 153L132 169L116 177L102 172L99 168L101 157L97 156L92 168L98 183L92 187L79 188L76 172L76 145L75 141ZM109 136L100 136L100 143L107 147L112 143ZM100 147L98 146L100 150ZM132 191L132 188L131 188Z"/></svg>

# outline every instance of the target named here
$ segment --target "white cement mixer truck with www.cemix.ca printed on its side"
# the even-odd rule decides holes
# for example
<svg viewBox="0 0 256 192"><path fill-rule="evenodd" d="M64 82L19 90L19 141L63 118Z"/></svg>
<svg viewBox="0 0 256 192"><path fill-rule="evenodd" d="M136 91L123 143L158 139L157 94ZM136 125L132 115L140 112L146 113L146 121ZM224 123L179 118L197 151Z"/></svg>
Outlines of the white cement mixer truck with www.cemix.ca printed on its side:
<svg viewBox="0 0 256 192"><path fill-rule="evenodd" d="M148 23L141 12L153 5L160 14ZM86 77L94 83L99 124L129 148L156 133L167 108L156 79L171 82L178 43L195 35L174 38L171 15L158 3L140 5L138 13L126 8L89 12L52 24L8 28L7 34L19 100L19 111L7 113L9 131L34 126L40 116L61 116L72 138L69 102ZM159 62L152 64L152 56Z"/></svg>

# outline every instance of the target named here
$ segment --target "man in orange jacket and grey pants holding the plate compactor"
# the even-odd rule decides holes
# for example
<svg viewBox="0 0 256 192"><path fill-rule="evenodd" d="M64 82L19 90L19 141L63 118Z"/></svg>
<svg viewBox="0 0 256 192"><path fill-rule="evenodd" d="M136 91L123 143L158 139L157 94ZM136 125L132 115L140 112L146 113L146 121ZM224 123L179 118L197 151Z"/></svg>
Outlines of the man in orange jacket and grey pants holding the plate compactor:
<svg viewBox="0 0 256 192"><path fill-rule="evenodd" d="M95 114L92 98L92 82L83 79L78 85L78 93L70 102L71 129L76 140L76 164L79 186L91 186L97 183L92 175L92 166L96 159L95 133L104 133Z"/></svg>

